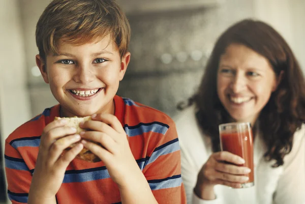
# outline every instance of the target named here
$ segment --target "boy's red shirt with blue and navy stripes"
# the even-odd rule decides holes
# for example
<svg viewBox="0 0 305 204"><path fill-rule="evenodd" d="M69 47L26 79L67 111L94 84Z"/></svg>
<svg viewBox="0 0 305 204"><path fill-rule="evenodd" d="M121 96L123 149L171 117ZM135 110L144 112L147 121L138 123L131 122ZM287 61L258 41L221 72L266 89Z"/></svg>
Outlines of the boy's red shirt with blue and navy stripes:
<svg viewBox="0 0 305 204"><path fill-rule="evenodd" d="M174 122L165 113L127 98L115 96L114 103L115 116L128 135L133 156L158 203L186 203ZM8 196L13 204L27 203L42 131L59 116L59 108L58 104L45 109L6 139ZM89 163L74 159L65 172L56 201L120 203L120 195L103 161Z"/></svg>

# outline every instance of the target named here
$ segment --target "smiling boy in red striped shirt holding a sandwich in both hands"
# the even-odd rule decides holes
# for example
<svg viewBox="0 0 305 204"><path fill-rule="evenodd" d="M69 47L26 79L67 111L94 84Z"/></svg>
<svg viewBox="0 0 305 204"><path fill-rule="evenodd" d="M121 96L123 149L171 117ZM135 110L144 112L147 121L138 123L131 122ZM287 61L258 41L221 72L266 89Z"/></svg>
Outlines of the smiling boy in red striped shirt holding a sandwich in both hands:
<svg viewBox="0 0 305 204"><path fill-rule="evenodd" d="M130 60L129 39L127 18L113 0L54 0L45 9L36 63L59 104L6 140L14 204L186 203L173 121L115 95ZM92 120L79 125L88 131L80 134L67 120L54 121L87 115ZM75 159L83 148L102 161Z"/></svg>

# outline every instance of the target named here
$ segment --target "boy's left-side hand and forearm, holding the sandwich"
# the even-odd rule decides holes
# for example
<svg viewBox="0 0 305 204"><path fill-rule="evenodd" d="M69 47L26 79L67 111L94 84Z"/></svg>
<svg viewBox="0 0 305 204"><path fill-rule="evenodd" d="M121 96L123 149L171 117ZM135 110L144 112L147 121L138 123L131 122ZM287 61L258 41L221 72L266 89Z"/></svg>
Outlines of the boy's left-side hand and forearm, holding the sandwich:
<svg viewBox="0 0 305 204"><path fill-rule="evenodd" d="M43 130L29 190L31 201L54 199L63 183L66 168L83 149L80 143L62 155L66 148L81 139L79 135L75 135L75 128L64 127L66 123L65 119L53 121ZM57 140L62 137L64 138Z"/></svg>

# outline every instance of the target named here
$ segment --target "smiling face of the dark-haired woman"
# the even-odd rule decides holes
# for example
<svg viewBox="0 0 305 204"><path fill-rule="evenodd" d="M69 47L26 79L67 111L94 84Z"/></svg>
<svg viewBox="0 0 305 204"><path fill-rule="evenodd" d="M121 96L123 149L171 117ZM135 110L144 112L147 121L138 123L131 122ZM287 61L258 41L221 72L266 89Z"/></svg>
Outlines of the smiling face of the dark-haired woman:
<svg viewBox="0 0 305 204"><path fill-rule="evenodd" d="M264 56L241 44L221 55L217 94L234 121L254 124L276 88L276 74Z"/></svg>

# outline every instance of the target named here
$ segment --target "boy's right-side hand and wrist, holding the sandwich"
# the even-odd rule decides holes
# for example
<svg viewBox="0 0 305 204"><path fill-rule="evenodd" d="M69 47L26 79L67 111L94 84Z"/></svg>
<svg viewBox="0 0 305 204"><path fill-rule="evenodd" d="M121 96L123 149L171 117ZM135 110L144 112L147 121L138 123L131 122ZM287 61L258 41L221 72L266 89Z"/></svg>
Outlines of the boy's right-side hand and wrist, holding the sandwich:
<svg viewBox="0 0 305 204"><path fill-rule="evenodd" d="M82 140L84 147L105 163L110 177L120 188L136 181L141 170L130 150L126 132L116 116L93 115L92 121L80 123L80 127L90 130L80 133L86 139ZM99 142L102 146L87 140Z"/></svg>

